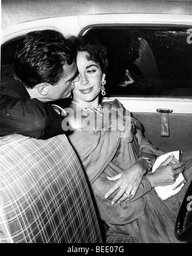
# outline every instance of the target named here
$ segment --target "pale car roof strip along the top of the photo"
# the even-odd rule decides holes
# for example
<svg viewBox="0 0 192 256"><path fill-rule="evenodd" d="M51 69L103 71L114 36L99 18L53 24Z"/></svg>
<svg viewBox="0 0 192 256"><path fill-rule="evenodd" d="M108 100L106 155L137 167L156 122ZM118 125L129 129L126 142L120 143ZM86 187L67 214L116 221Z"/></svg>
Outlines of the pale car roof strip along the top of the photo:
<svg viewBox="0 0 192 256"><path fill-rule="evenodd" d="M26 21L92 14L192 14L191 1L1 0L1 28Z"/></svg>

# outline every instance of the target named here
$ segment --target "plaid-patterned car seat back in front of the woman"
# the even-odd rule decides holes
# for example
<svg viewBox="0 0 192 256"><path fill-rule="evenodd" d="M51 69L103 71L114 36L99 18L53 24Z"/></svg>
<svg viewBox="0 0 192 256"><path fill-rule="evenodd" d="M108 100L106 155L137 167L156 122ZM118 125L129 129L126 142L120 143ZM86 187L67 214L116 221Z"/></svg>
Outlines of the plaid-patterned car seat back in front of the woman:
<svg viewBox="0 0 192 256"><path fill-rule="evenodd" d="M0 138L0 242L102 242L83 170L64 134Z"/></svg>

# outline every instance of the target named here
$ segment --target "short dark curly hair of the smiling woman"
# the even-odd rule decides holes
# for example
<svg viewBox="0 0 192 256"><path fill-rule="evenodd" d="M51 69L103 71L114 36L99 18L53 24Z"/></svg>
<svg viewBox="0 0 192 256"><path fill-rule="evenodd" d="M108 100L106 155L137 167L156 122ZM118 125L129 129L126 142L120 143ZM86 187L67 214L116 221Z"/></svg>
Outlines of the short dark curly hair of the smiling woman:
<svg viewBox="0 0 192 256"><path fill-rule="evenodd" d="M81 35L79 37L68 37L67 39L73 46L73 50L76 51L76 55L78 51L87 51L89 53L87 59L99 63L102 72L106 73L108 66L107 50L96 37Z"/></svg>

